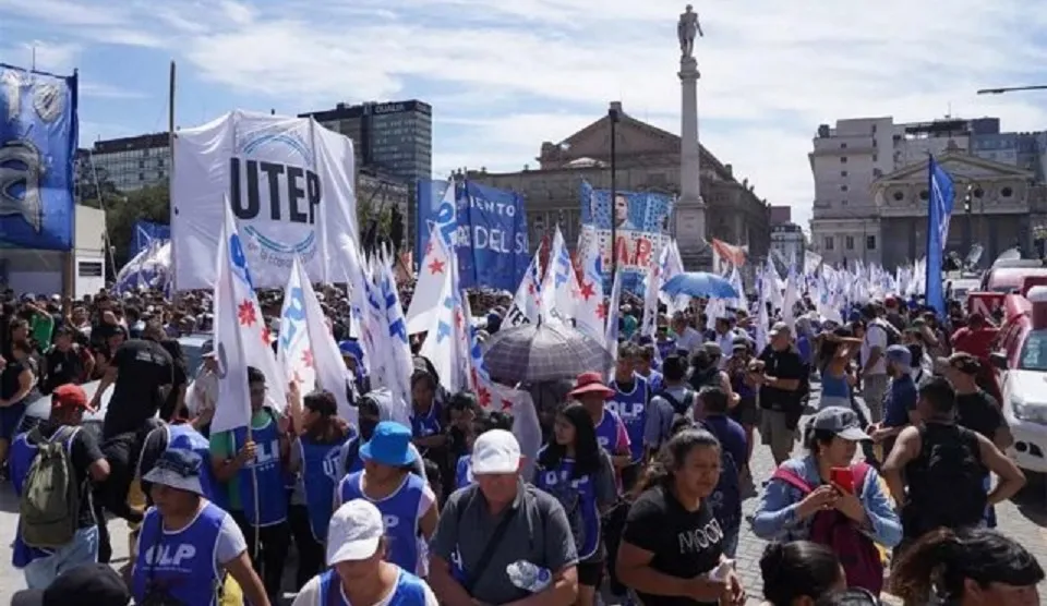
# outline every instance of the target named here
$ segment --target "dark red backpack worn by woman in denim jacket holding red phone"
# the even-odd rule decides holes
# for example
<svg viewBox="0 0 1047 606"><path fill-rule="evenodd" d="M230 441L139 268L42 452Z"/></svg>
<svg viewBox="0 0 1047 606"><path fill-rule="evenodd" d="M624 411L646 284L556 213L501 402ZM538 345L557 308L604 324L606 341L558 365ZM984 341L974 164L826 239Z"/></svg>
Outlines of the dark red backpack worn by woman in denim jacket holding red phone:
<svg viewBox="0 0 1047 606"><path fill-rule="evenodd" d="M865 462L851 465L854 488L859 498L870 469ZM805 497L815 488L795 472L783 468L778 468L771 477L797 488ZM825 545L837 554L847 575L847 586L862 587L875 595L880 594L883 589L883 558L880 549L846 516L835 509L815 513L807 540Z"/></svg>

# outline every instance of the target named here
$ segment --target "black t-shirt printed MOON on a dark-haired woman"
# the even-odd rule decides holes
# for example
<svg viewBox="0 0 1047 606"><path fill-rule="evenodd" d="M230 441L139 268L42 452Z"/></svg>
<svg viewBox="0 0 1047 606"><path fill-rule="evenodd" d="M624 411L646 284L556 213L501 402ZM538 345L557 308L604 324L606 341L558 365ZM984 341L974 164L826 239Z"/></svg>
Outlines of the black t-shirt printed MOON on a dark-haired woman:
<svg viewBox="0 0 1047 606"><path fill-rule="evenodd" d="M720 563L723 530L707 500L697 511L684 509L664 486L646 490L625 522L622 540L654 554L651 568L679 579L706 574ZM645 606L694 606L686 597L666 597L637 592ZM715 604L715 602L711 603Z"/></svg>

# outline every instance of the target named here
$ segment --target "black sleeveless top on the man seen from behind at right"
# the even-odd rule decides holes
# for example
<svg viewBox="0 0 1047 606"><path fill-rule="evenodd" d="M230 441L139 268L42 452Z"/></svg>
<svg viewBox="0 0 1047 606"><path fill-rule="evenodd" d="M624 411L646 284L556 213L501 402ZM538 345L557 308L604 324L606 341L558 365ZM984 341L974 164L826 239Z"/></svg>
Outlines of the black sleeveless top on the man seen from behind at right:
<svg viewBox="0 0 1047 606"><path fill-rule="evenodd" d="M919 429L920 452L908 473L902 512L906 536L979 524L988 505L978 436L966 427L929 423Z"/></svg>

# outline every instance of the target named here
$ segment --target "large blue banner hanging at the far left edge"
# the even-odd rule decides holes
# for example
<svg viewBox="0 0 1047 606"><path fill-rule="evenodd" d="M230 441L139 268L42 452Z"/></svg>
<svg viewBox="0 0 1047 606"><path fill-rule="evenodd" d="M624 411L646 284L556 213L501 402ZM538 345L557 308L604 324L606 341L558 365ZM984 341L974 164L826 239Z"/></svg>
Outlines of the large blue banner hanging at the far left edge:
<svg viewBox="0 0 1047 606"><path fill-rule="evenodd" d="M76 76L0 63L0 244L73 247Z"/></svg>

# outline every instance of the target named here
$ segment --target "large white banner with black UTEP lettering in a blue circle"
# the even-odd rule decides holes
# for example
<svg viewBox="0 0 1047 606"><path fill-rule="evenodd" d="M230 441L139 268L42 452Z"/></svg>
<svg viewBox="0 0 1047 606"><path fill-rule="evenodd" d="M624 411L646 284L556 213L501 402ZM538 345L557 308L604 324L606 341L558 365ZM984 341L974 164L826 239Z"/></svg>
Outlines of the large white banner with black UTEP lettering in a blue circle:
<svg viewBox="0 0 1047 606"><path fill-rule="evenodd" d="M179 290L209 288L224 199L255 286L345 280L340 241L359 240L352 142L310 118L233 111L174 136L171 240Z"/></svg>

